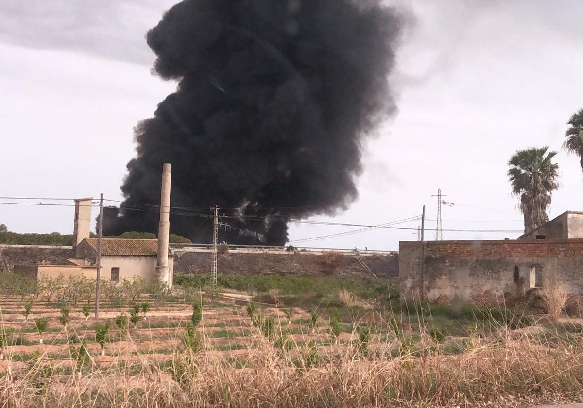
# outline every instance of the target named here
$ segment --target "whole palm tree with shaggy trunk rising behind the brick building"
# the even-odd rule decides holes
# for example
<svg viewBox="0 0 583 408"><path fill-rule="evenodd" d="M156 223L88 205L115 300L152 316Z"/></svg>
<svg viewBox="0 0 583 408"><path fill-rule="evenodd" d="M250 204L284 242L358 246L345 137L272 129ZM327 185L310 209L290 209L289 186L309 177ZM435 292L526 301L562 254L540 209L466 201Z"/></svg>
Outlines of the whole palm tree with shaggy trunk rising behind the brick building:
<svg viewBox="0 0 583 408"><path fill-rule="evenodd" d="M512 184L512 194L521 200L525 233L549 221L546 209L553 191L559 188L559 164L553 163L557 152L548 150L548 146L518 150L508 161L508 178Z"/></svg>

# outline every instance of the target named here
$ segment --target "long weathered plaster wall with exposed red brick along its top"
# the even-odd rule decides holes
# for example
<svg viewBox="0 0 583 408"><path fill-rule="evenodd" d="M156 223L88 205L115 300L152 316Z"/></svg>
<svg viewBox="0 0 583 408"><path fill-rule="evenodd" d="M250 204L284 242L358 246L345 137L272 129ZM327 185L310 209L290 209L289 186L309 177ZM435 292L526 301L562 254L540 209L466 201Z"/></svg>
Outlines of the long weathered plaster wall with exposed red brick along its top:
<svg viewBox="0 0 583 408"><path fill-rule="evenodd" d="M429 241L399 243L401 298L494 302L564 283L583 294L583 240ZM423 278L423 279L422 279Z"/></svg>

